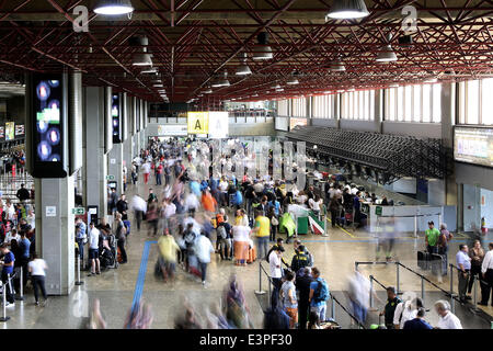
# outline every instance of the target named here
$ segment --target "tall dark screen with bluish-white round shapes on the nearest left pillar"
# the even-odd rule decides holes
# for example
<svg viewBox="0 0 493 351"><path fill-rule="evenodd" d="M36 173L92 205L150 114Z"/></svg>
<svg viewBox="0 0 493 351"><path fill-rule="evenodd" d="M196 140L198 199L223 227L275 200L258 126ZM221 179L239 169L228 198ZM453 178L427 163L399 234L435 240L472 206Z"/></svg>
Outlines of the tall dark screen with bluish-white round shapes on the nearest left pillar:
<svg viewBox="0 0 493 351"><path fill-rule="evenodd" d="M61 161L61 75L34 75L33 109L36 116L34 141L35 160L42 162Z"/></svg>

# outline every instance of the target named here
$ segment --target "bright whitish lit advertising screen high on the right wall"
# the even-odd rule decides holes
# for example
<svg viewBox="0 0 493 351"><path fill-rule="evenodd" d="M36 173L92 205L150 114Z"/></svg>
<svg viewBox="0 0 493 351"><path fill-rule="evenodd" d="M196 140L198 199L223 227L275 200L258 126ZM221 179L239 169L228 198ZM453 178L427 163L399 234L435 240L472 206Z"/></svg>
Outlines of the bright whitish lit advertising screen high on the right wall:
<svg viewBox="0 0 493 351"><path fill-rule="evenodd" d="M456 126L454 158L459 162L493 167L493 128Z"/></svg>

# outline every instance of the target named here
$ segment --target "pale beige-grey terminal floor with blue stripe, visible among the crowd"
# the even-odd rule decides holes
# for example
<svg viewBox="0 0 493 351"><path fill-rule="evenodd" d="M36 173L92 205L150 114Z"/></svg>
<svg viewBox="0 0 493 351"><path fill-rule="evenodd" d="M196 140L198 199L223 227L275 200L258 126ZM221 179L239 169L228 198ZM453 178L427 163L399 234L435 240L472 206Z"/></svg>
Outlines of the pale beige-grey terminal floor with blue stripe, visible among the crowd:
<svg viewBox="0 0 493 351"><path fill-rule="evenodd" d="M153 184L150 186L160 196L158 186ZM127 191L128 201L130 202L131 195L137 191L146 199L148 189L149 185L144 184L139 184L137 189L130 185ZM334 292L334 296L347 306L347 301L342 293L346 290L347 276L353 272L355 261L375 260L375 238L364 231L331 228L329 229L329 237L306 235L300 236L300 239L312 252L316 267L321 269L330 290ZM454 240L450 248L450 260L455 257L458 245L465 242L466 239L462 235L456 236L456 240ZM140 231L137 231L134 225L127 242L127 264L119 265L118 269L110 269L98 276L88 278L87 272L82 272L83 285L76 286L70 296L50 297L46 307L35 307L32 292L27 290L24 302L18 302L15 307L7 309L11 319L7 322L0 322L0 328L79 328L83 321L82 317L88 315L87 306L91 306L92 301L99 298L107 327L118 329L124 327L124 321L133 301L138 298L140 294L152 306L154 315L152 328L173 328L174 317L182 310L181 306L183 306L184 298L187 298L202 313L205 308L220 301L223 287L227 285L229 276L233 273L238 274L239 280L244 285L246 304L253 325L256 328L262 327L262 307L254 293L259 290L257 262L248 267L236 267L231 261L221 262L219 256L215 254L208 268L208 285L206 288L195 279L191 279L180 268L177 269L175 282L164 284L161 281L157 281L153 276L153 267L158 257L156 240L157 238L148 237L145 224ZM149 250L147 260L145 257L142 259L146 246L148 246ZM419 271L415 259L416 250L423 248L424 240L422 237L415 239L403 235L401 238L398 238L395 244L395 260ZM293 246L288 245L284 254L289 261L293 253ZM264 267L267 268L265 262ZM360 268L366 276L372 274L383 285L395 285L397 269L394 264L362 265ZM425 272L425 274L429 274L429 272ZM429 276L429 279L436 281L433 276ZM263 290L267 290L266 282L264 276ZM444 282L438 285L448 291L450 286L448 278L446 276ZM457 290L457 284L455 284L455 288ZM420 295L421 280L416 275L400 269L400 291L414 291ZM425 284L425 305L427 308L433 307L434 301L446 298L444 294L429 284ZM380 290L378 294L385 301L383 291ZM377 303L377 307L380 308L382 305ZM481 306L481 308L489 315L493 315L493 307ZM335 313L336 320L341 320L343 327L351 327L348 317L340 307L336 308ZM328 316L330 316L330 308ZM473 314L461 314L460 316L466 319L462 320L465 328L489 328L490 326L488 321L482 322L480 319L469 322L469 319L479 318ZM372 318L375 317L370 316L369 320ZM428 314L427 320L436 324L437 316L434 312Z"/></svg>

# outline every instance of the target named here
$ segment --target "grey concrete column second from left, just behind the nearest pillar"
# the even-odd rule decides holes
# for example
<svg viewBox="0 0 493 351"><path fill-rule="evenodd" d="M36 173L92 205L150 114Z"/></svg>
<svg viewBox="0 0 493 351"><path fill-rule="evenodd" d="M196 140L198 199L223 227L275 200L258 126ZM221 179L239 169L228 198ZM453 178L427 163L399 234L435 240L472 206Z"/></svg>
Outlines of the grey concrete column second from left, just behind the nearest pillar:
<svg viewBox="0 0 493 351"><path fill-rule="evenodd" d="M84 199L87 206L98 206L99 217L107 214L107 155L105 154L104 88L85 88L84 118Z"/></svg>

